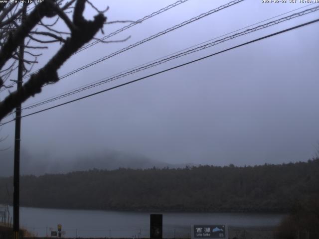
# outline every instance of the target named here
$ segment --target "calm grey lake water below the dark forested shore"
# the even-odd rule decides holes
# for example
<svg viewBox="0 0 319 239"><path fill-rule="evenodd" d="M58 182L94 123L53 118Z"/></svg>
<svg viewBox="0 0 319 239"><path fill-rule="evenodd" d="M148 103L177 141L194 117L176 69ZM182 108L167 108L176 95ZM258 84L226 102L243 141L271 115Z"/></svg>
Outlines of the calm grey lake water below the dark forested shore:
<svg viewBox="0 0 319 239"><path fill-rule="evenodd" d="M10 216L12 216L10 207ZM62 225L65 237L149 237L150 214L98 210L20 208L20 227L35 236L50 236ZM190 225L277 226L283 214L162 213L163 237L190 237Z"/></svg>

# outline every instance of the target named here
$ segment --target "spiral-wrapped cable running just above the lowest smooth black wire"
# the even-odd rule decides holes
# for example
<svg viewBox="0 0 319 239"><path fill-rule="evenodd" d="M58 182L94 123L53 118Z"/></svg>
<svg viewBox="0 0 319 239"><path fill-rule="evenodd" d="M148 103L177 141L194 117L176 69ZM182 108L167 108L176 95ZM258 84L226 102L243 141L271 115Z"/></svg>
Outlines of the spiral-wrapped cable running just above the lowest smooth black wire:
<svg viewBox="0 0 319 239"><path fill-rule="evenodd" d="M275 25L275 24L278 24L278 23L281 23L281 22L284 22L284 21L287 21L287 20L290 20L290 19L293 19L293 18L296 18L296 17L299 17L299 16L303 16L305 14L308 14L308 13L311 13L311 12L314 12L314 11L317 11L317 10L319 10L319 6L316 6L316 7L310 8L310 9L306 9L306 10L298 12L298 13L294 13L294 14L286 16L286 17L282 17L282 18L277 19L275 21L270 21L270 22L267 22L265 24L258 25L258 26L254 27L254 28L246 29L246 30L244 30L242 32L238 32L238 33L236 33L234 35L227 36L225 38L222 38L222 39L219 39L219 40L216 40L216 41L213 41L213 42L208 42L208 43L206 43L204 45L201 45L201 46L195 47L193 49L190 49L190 50L187 50L187 51L172 55L172 56L164 58L164 59L162 59L160 61L156 61L156 62L144 65L144 66L139 67L139 68L134 68L133 70L129 70L129 71L126 71L124 73L120 73L118 75L114 75L114 76L111 76L111 77L104 78L104 79L102 79L102 80L100 80L100 81L98 81L96 83L89 84L89 85L87 85L85 87L77 88L75 90L71 90L71 91L69 91L67 93L60 94L60 95L58 95L56 97L53 97L53 98L50 98L48 100L44 100L44 101L41 101L39 103L35 103L35 104L32 104L32 105L26 106L26 107L22 108L22 110L28 110L28 109L31 109L31 108L34 108L34 107L37 107L37 106L41 106L41 105L44 105L44 104L47 104L47 103L50 103L50 102L53 102L53 101L68 97L70 95L79 93L81 91L88 90L90 88L105 84L105 83L110 82L110 81L117 80L119 78L123 78L125 76L137 73L139 71L146 70L146 69L149 69L151 67L160 65L160 64L165 63L165 62L168 62L170 60L173 60L173 59L176 59L176 58L179 58L179 57L182 57L182 56L185 56L185 55L188 55L188 54L200 51L200 50L204 50L206 48L212 47L212 46L217 45L219 43L223 43L223 42L225 42L227 40L231 40L231 39L234 39L236 37L239 37L239 36L251 33L251 32L255 32L257 30L264 29L266 27L270 27L272 25Z"/></svg>

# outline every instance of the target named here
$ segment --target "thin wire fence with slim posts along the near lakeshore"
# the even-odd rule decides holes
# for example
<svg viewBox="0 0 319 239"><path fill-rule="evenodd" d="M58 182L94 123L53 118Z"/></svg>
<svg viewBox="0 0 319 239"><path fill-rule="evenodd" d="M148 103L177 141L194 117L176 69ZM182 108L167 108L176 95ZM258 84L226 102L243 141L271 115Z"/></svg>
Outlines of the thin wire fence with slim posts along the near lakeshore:
<svg viewBox="0 0 319 239"><path fill-rule="evenodd" d="M50 228L26 228L31 234L25 234L27 238L50 238ZM62 238L84 239L149 239L148 228L113 228L101 230L63 229ZM52 228L53 231L53 228ZM0 232L0 239L11 239L12 232ZM190 239L191 227L180 225L163 225L163 239ZM52 239L57 237L52 237ZM279 232L274 227L231 227L228 226L228 239L319 239L318 232L296 231Z"/></svg>

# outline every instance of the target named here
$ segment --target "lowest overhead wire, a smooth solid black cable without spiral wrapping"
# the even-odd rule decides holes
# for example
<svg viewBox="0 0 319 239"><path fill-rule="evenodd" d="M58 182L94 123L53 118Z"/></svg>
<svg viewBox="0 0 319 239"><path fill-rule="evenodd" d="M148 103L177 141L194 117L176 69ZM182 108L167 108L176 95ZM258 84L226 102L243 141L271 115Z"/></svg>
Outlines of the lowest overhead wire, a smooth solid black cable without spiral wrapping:
<svg viewBox="0 0 319 239"><path fill-rule="evenodd" d="M275 33L272 33L272 34L269 34L269 35L266 35L266 36L263 36L263 37L260 37L260 38L251 40L251 41L247 41L247 42L245 42L245 43L242 43L242 44L239 44L239 45L236 45L236 46L227 48L227 49L225 49L225 50L222 50L222 51L219 51L219 52L216 52L216 53L213 53L213 54L210 54L210 55L207 55L207 56L204 56L204 57L201 57L201 58L198 58L198 59L195 59L195 60L192 60L192 61L183 63L183 64L180 64L180 65L177 65L177 66L174 66L174 67L171 67L171 68L168 68L168 69L165 69L165 70L162 70L162 71L159 71L159 72L156 72L156 73L153 73L153 74L150 74L150 75L141 77L141 78L138 78L138 79L133 80L133 81L129 81L129 82L126 82L126 83L123 83L123 84L120 84L120 85L117 85L117 86L114 86L114 87L111 87L111 88L108 88L108 89L105 89L105 90L102 90L102 91L99 91L99 92L95 92L95 93L90 94L90 95L86 95L86 96L77 98L77 99L72 100L72 101L68 101L68 102L65 102L65 103L62 103L62 104L53 106L53 107L49 107L49 108L46 108L46 109L43 109L43 110L40 110L40 111L37 111L37 112L30 113L30 114L28 114L28 115L22 116L21 118L28 117L28 116L32 116L32 115L35 115L35 114L38 114L38 113L41 113L41 112L44 112L44 111L48 111L48 110L51 110L51 109L54 109L54 108L57 108L57 107L60 107L60 106L63 106L63 105L67 105L67 104L70 104L70 103L73 103L73 102L76 102L76 101L79 101L79 100L82 100L82 99L91 97L91 96L95 96L95 95L98 95L98 94L101 94L101 93L104 93L104 92L107 92L107 91L110 91L110 90L114 90L114 89L116 89L116 88L119 88L119 87L122 87L122 86L125 86L125 85L129 85L129 84L132 84L132 83L134 83L134 82L141 81L141 80L150 78L150 77L152 77L152 76L159 75L159 74L161 74L161 73L164 73L164 72L167 72L167 71L170 71L170 70L173 70L173 69L182 67L182 66L189 65L189 64L191 64L191 63L194 63L194 62L197 62L197 61L200 61L200 60L203 60L203 59L206 59L206 58L209 58L209 57L212 57L212 56L221 54L221 53L224 53L224 52L226 52L226 51L233 50L233 49L235 49L235 48L238 48L238 47L241 47L241 46L244 46L244 45L251 44L251 43L253 43L253 42L257 42L257 41L260 41L260 40L263 40L263 39L266 39L266 38L269 38L269 37L272 37L272 36L275 36L275 35L278 35L278 34L282 34L282 33L287 32L287 31L291 31L291 30L294 30L294 29L297 29L297 28L300 28L300 27L303 27L303 26L306 26L306 25L310 25L310 24L313 24L313 23L318 22L318 21L319 21L319 18L317 18L316 20L312 20L312 21L309 21L309 22L306 22L306 23L303 23L303 24L294 26L294 27L287 28L287 29L285 29L285 30L277 31L277 32L275 32ZM14 120L15 120L15 119L12 119L12 120L10 120L10 121L4 122L4 123L0 124L0 126L2 126L2 125L4 125L4 124L7 124L7 123L9 123L9 122L11 122L11 121L14 121Z"/></svg>

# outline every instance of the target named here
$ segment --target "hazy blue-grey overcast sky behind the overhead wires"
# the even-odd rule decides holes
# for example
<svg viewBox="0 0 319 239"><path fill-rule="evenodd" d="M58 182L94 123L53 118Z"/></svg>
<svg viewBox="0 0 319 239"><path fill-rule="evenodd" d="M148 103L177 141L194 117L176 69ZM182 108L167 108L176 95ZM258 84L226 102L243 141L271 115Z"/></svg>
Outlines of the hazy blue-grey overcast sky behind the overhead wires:
<svg viewBox="0 0 319 239"><path fill-rule="evenodd" d="M106 15L109 21L113 21L137 20L174 1L92 2L101 9L109 4ZM61 76L227 2L188 0L110 38L119 40L131 36L126 42L99 43L72 56L58 73ZM22 107L306 5L244 0L46 86L42 93L29 99ZM86 16L90 18L94 14L96 12L87 6ZM319 11L297 17L24 111L22 115L318 17ZM106 25L105 35L126 24ZM61 157L68 160L75 155L117 150L168 163L256 165L307 161L319 147L318 29L319 23L314 23L23 118L21 147L31 156L50 155L50 160ZM59 44L51 45L45 50L37 68L43 66L58 47ZM0 98L3 99L6 94L2 92ZM11 146L12 149L14 123L2 126L0 133L9 135L0 146ZM45 160L49 159L44 157Z"/></svg>

